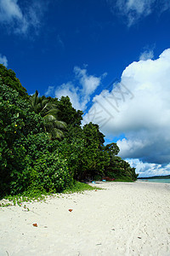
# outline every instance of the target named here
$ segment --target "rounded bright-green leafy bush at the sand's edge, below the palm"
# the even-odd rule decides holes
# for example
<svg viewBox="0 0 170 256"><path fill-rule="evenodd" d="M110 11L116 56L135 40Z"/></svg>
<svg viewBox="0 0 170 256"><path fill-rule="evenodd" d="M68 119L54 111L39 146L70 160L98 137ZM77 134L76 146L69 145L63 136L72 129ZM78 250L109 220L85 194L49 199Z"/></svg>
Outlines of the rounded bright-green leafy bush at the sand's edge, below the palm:
<svg viewBox="0 0 170 256"><path fill-rule="evenodd" d="M61 154L39 155L31 168L29 189L45 189L46 192L61 192L71 184L71 176Z"/></svg>

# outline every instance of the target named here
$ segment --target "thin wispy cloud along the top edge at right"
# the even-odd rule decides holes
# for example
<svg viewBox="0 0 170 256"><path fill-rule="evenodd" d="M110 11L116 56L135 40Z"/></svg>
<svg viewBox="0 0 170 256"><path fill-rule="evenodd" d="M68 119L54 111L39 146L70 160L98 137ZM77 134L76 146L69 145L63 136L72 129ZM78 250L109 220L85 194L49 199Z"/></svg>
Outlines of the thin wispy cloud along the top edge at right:
<svg viewBox="0 0 170 256"><path fill-rule="evenodd" d="M111 6L111 12L127 18L127 26L132 26L140 18L157 11L159 14L170 9L167 0L106 0Z"/></svg>

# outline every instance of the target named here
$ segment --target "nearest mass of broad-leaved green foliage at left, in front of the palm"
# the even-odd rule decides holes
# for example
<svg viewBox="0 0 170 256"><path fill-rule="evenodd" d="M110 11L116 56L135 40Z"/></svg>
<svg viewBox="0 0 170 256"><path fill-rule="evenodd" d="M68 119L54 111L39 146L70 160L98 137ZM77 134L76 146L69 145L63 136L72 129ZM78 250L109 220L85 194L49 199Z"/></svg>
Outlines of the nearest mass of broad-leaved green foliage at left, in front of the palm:
<svg viewBox="0 0 170 256"><path fill-rule="evenodd" d="M71 183L68 166L44 132L41 115L31 112L18 92L0 87L0 191L14 195L33 187L65 189Z"/></svg>

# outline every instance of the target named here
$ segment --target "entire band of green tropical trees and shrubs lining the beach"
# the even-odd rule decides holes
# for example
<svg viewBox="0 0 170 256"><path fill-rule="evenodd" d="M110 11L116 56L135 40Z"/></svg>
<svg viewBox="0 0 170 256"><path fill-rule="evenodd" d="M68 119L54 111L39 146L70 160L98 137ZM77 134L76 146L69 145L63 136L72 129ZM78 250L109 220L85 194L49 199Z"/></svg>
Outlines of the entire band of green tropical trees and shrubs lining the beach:
<svg viewBox="0 0 170 256"><path fill-rule="evenodd" d="M29 96L14 71L0 65L0 193L60 192L75 180L137 179L135 169L104 145L99 125L81 126L70 98Z"/></svg>

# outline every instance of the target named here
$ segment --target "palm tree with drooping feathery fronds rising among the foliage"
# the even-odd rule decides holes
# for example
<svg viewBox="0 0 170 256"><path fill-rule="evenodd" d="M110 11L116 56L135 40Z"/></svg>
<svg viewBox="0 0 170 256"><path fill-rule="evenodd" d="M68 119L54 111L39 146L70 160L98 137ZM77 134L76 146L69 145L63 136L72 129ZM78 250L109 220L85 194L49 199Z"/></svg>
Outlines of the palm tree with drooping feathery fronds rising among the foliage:
<svg viewBox="0 0 170 256"><path fill-rule="evenodd" d="M57 119L59 109L56 104L48 101L48 99L39 97L36 90L35 94L30 97L31 110L39 113L43 118L44 130L49 133L50 138L64 137L61 129L66 128L65 122Z"/></svg>

